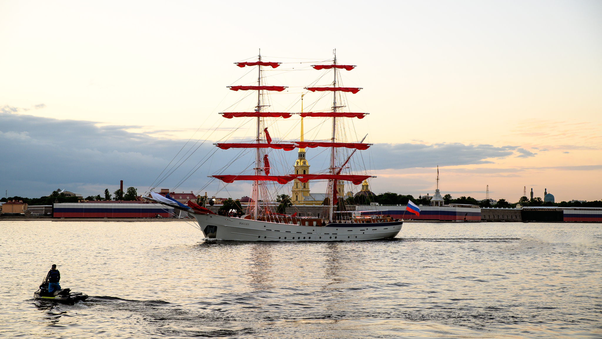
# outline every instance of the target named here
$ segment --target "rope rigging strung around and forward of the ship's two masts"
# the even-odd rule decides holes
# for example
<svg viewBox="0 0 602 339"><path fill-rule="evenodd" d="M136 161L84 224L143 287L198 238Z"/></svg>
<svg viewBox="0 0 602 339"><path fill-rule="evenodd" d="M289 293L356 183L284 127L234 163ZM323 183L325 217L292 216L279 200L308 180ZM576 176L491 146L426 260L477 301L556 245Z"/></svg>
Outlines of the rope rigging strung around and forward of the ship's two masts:
<svg viewBox="0 0 602 339"><path fill-rule="evenodd" d="M262 55L262 59L265 62L268 62L267 60L270 60L269 62L272 62L272 59L274 60L273 62L276 62L277 59L295 59L295 60L310 60L310 61L300 61L300 62L282 62L279 63L281 65L291 65L287 68L269 68L268 66L264 66L265 69L264 72L261 73L261 76L259 77L259 81L262 84L267 84L267 81L270 80L270 83L276 83L276 84L282 84L283 86L285 85L284 78L282 78L283 75L288 75L291 72L300 72L300 71L314 71L314 72L318 72L315 71L314 69L312 69L311 65L316 65L319 63L330 63L333 62L333 59L327 59L327 60L323 60L323 59L299 59L299 58L277 58L277 57L265 57ZM249 60L256 60L256 57L249 57L247 59L241 60L238 63L244 63L247 62ZM306 65L306 64L311 64L311 65ZM299 67L294 67L293 65L300 65ZM261 66L259 66L261 67ZM282 67L282 66L281 66ZM249 70L244 72L244 74L238 78L237 80L235 80L233 83L231 83L231 86L237 85L240 86L241 83L239 81L243 81L244 78L246 77L253 77L253 72L256 71L256 67L249 67ZM332 82L330 83L326 83L326 84L322 84L323 83L323 78L329 76L329 74L331 74L328 71L320 71L322 72L322 74L318 74L318 76L316 78L314 78L313 81L309 82L309 85L307 86L288 86L290 89L294 89L294 88L305 88L305 87L314 87L314 86L318 86L318 84L320 84L319 86L332 86ZM351 80L349 80L348 77L344 77L347 81L353 82ZM243 82L242 84L255 84L257 83L258 78L255 78L253 81L247 81L247 82ZM337 86L342 86L343 84L343 77L341 76L341 73L338 72L337 73ZM230 91L228 91L229 93L231 93ZM298 94L298 93L308 93L308 90L301 90L299 92L295 91L295 92L280 92L280 93L268 93L267 91L261 91L259 92L259 95L262 98L262 105L265 106L265 112L268 111L272 111L274 109L273 105L275 103L273 103L273 98L275 98L274 96L277 97L281 97L282 95L294 95L294 94ZM239 106L247 106L247 110L245 110L244 112L252 112L253 109L258 110L260 107L257 107L255 104L249 104L247 103L247 101L252 101L253 100L253 96L256 93L254 93L254 91L249 91L247 93L243 93L240 95L240 97L238 98L238 100L236 100L234 103L232 103L230 106L226 107L226 109L222 110L222 112L228 112L231 109L238 109ZM308 104L308 106L306 107L309 112L314 112L313 110L316 109L316 107L318 107L318 105L320 105L321 103L323 103L324 100L327 100L328 98L331 98L332 96L330 96L330 93L326 93L326 92L321 92L318 93L316 92L314 97L314 100L311 101L311 103ZM347 100L346 100L346 93L343 92L335 92L335 95L337 97L337 104L340 106L337 107L347 107ZM222 101L220 101L221 105L223 103L223 101L225 100L225 98L228 97L228 94L225 95L225 97L222 99ZM317 97L317 98L316 98ZM291 110L293 110L294 107L296 107L299 104L300 98L298 95L296 95L296 98L292 101L288 100L287 104L282 106L284 107L284 110L278 110L277 112L290 112ZM327 102L327 101L326 101ZM332 105L330 105L332 106ZM217 109L217 107L216 107ZM326 107L324 107L323 110L318 110L318 112L329 112L329 107L326 105ZM214 110L215 112L215 110ZM357 112L357 111L354 111ZM362 112L361 110L359 112ZM365 111L364 111L365 112ZM355 114L355 113L353 113ZM211 113L211 115L213 115L213 112ZM236 119L223 119L222 117L219 117L220 121L214 121L213 124L211 125L211 127L209 127L205 133L203 133L202 136L200 136L199 139L197 139L195 142L193 141L193 137L194 135L196 135L196 133L200 130L200 128L203 127L203 125L208 121L209 118L211 118L211 115L208 115L207 118L205 119L205 121L203 121L203 124L199 126L199 128L197 128L197 130L193 133L193 135L185 142L184 145L182 145L182 147L179 149L179 151L175 154L175 156L173 156L172 160L170 160L169 163L167 163L167 165L165 166L165 168L163 169L163 171L161 171L160 174L158 174L157 178L154 180L154 182L152 183L151 186L149 186L149 191L151 189L154 189L155 187L161 185L162 183L166 182L166 180L173 176L174 173L176 173L176 171L183 169L185 165L185 163L188 163L191 160L191 157L193 157L194 154L197 153L197 151L199 150L199 148L201 148L203 145L205 145L205 142L209 141L209 139L212 138L216 138L217 141L224 141L224 140L228 140L231 139L236 133L243 131L244 127L248 127L247 131L253 130L253 122L255 122L255 118L236 118ZM290 136L294 135L294 133L296 132L296 130L299 128L299 121L297 119L297 121L294 121L293 123L289 124L287 127L284 126L284 124L276 124L276 121L281 122L281 120L277 120L277 119L272 119L272 118L259 118L260 124L262 126L262 128L267 127L270 130L270 135L272 136L280 136L282 141L285 141L287 139L293 139L293 141L297 141L299 140L298 137L296 138L290 138ZM349 118L334 118L337 120L337 131L336 131L336 140L337 142L349 142L347 140L347 138L349 138L349 136L353 136L353 139L355 140L359 140L358 138L358 133L355 130L355 122L353 121L353 118L351 119L351 121L349 121ZM235 121L235 120L241 120L241 121L237 121L234 123L234 126L230 127L229 130L228 128L222 128L222 125L225 125L224 122L228 120L228 121ZM313 125L309 125L308 128L306 128L306 135L311 136L312 140L316 141L318 138L318 136L324 134L324 128L328 128L329 127L329 121L330 118L311 118L311 121L314 122ZM281 127L285 127L284 130L281 130ZM261 129L262 129L261 128ZM222 133L222 129L228 130L226 133ZM248 135L248 134L247 134ZM263 133L261 133L261 140L262 142L264 141L264 136ZM325 142L330 142L330 138L321 138L321 140L325 141ZM254 142L255 139L250 140L249 142ZM182 178L180 180L178 180L178 182L173 186L173 190L175 191L175 189L179 188L180 186L184 185L185 182L187 182L188 179L190 179L195 173L197 173L197 171L199 171L200 168L203 168L203 166L205 166L208 162L209 162L209 170L211 168L211 164L213 164L213 157L216 156L216 152L217 152L218 148L214 148L211 150L208 150L205 154L203 154L199 160L197 160L192 166L190 166L190 168L188 169L187 173L184 174L184 176L182 176ZM316 170L316 171L312 171L312 173L327 173L329 171L329 165L326 163L326 157L324 157L324 152L327 152L328 149L327 148L323 148L323 149L316 149L316 148L312 148L312 150L315 150L315 152L312 152L311 156L308 157L308 160L317 160L320 159L321 157L324 158L324 163L321 165L320 170ZM335 148L335 150L337 151L337 155L336 158L337 159L346 159L347 156L349 156L349 154L351 154L351 150L348 150L347 148ZM287 153L287 152L283 152L283 151L273 151L273 150L264 150L261 151L261 154L268 154L269 159L270 159L270 164L271 164L271 168L272 168L272 174L271 175L286 175L291 173L291 171L293 170L293 165L291 165L294 160L291 158L293 157L294 153ZM215 171L214 173L219 173L219 174L223 174L225 173L227 170L231 169L233 165L235 165L236 163L240 162L241 159L248 157L249 155L249 150L241 150L240 152L238 152L238 154L234 157L231 158L228 162L225 163L225 165L222 165L217 171ZM359 153L359 157L356 156L356 154L354 153L352 159L349 160L349 162L347 163L346 166L348 167L355 167L357 165L365 165L365 159L364 156L362 155L361 152L357 152ZM252 158L252 157L248 157L248 158ZM177 160L176 160L177 159ZM209 159L211 159L209 161ZM293 161L291 161L293 160ZM368 158L368 163L370 163L370 157ZM341 160L342 161L342 160ZM238 171L232 171L235 172L236 175L241 175L241 173L246 173L250 170L253 170L252 166L254 165L254 161L251 159L249 160L249 162L246 164L246 166L241 166L242 170L240 170L240 168L238 168ZM365 168L365 166L364 166ZM282 173L282 170L284 170L284 173ZM348 168L344 168L341 170L343 173L352 173L352 170L348 169ZM363 171L364 173L367 173L367 171ZM209 174L209 173L208 173ZM204 189L208 188L210 185L214 184L214 180L215 178L211 178L209 180L207 180L205 182L205 184L202 186L202 188L200 188L197 191L197 194L199 194L199 192L203 191ZM312 181L314 182L314 181ZM315 180L315 182L324 182L324 180ZM223 188L220 188L220 186L223 186ZM226 183L223 183L223 185L218 185L217 187L217 192L226 190ZM268 189L269 186L269 189ZM287 186L279 186L278 184L275 183L268 183L268 184L261 184L261 186L259 187L259 189L261 189L262 195L264 197L269 197L272 196L273 197L273 192L288 192L288 187ZM272 192L272 193L270 193ZM275 201L275 199L272 198L268 198L268 200L271 201Z"/></svg>

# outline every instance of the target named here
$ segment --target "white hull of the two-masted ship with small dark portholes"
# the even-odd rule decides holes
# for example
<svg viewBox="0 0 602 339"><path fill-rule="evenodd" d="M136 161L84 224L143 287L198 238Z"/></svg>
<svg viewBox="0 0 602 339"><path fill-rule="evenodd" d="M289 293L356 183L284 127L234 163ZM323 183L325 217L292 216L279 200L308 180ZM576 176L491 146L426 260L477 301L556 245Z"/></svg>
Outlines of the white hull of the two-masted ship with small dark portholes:
<svg viewBox="0 0 602 339"><path fill-rule="evenodd" d="M234 241L360 241L394 238L403 221L301 226L212 214L193 214L206 238Z"/></svg>

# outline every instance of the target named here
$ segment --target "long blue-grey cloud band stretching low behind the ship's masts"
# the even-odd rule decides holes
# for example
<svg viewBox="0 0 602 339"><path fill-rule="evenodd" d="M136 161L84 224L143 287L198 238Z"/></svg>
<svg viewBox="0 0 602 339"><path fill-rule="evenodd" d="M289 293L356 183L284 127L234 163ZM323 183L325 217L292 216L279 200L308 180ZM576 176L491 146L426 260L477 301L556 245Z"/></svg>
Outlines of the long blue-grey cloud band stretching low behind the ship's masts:
<svg viewBox="0 0 602 339"><path fill-rule="evenodd" d="M23 115L16 107L0 107L0 148L2 159L13 159L0 166L0 176L6 178L9 195L39 197L57 188L67 188L84 196L96 195L109 188L114 191L119 180L124 185L145 191L161 172L172 173L157 188L178 186L182 178L190 179L179 190L216 192L241 197L249 194L245 182L223 188L211 182L211 174L250 173L253 168L252 150L219 150L213 141L157 138L149 133L137 133L137 125L101 125L95 121L60 120ZM191 150L196 150L191 154ZM375 144L370 148L373 160L370 170L396 171L407 168L428 168L436 165L479 165L492 163L487 159L511 156L516 146L453 144ZM364 155L361 155L364 154ZM356 153L355 162L365 157ZM327 151L312 151L308 159L315 172L327 168ZM296 152L272 151L270 162L274 174L288 174ZM179 159L187 159L179 165ZM235 162L232 162L232 159ZM278 173L281 171L282 173ZM461 170L458 170L461 171ZM480 170L489 173L490 170ZM492 170L496 173L517 171ZM206 186L209 185L209 186ZM318 189L320 183L313 186ZM422 185L423 186L423 185ZM102 188L102 189L101 189ZM282 188L283 193L288 189ZM318 189L319 190L319 189Z"/></svg>

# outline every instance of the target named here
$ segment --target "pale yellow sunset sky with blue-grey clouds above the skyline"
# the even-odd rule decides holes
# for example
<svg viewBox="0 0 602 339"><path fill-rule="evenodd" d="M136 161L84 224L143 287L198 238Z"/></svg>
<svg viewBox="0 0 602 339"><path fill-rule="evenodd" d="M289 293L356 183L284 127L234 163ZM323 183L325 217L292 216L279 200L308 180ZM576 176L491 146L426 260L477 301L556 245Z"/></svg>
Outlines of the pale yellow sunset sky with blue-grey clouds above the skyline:
<svg viewBox="0 0 602 339"><path fill-rule="evenodd" d="M299 112L303 86L321 75L308 65L336 48L358 65L341 72L363 88L346 100L370 115L345 123L353 141L374 144L354 159L376 176L373 192L432 194L438 165L453 197L484 198L489 185L513 202L525 186L602 199L600 1L0 1L0 46L2 196L85 197L119 180L139 193L249 195L248 183L207 177L250 163L212 145L252 139L248 121L217 114L252 107L226 88L255 76L233 63L259 48L283 62L269 81L290 87L272 109ZM270 123L273 138L299 138L298 118L287 120ZM305 120L306 139L327 138L323 121ZM296 159L270 154L282 171ZM327 161L315 148L308 159L311 170Z"/></svg>

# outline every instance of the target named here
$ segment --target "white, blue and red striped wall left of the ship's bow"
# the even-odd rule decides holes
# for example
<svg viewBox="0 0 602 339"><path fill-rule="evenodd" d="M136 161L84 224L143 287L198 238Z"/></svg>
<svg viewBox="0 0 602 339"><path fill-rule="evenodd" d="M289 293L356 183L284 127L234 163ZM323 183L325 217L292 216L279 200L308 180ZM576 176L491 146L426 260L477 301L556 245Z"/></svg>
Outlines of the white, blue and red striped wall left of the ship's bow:
<svg viewBox="0 0 602 339"><path fill-rule="evenodd" d="M55 203L55 218L163 218L173 217L173 208L162 204Z"/></svg>

